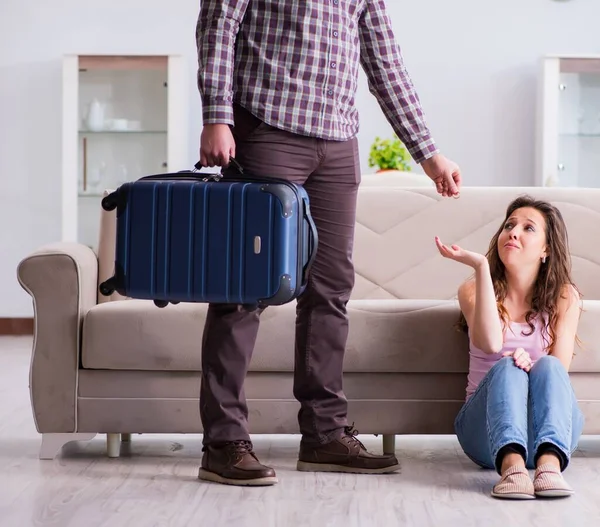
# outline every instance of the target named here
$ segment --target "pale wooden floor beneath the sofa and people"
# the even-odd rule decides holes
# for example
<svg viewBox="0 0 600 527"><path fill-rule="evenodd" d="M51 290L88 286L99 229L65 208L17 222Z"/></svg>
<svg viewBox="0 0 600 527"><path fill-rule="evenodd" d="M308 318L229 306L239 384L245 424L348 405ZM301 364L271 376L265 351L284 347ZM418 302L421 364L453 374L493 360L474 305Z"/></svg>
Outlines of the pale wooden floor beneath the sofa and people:
<svg viewBox="0 0 600 527"><path fill-rule="evenodd" d="M1 527L600 526L598 437L582 440L566 472L576 495L560 501L490 498L495 474L475 467L454 437L399 438L401 472L361 476L296 472L299 437L259 436L256 451L280 483L254 489L198 481L198 436L133 436L119 459L97 436L40 461L30 348L30 338L0 337ZM381 450L379 439L361 439Z"/></svg>

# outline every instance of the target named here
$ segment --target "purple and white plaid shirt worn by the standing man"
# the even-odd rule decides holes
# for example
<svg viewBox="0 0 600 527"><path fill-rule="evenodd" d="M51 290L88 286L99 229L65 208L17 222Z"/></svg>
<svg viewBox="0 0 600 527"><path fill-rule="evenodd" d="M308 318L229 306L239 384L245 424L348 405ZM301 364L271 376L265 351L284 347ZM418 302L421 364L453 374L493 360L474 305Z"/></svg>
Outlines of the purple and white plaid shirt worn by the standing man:
<svg viewBox="0 0 600 527"><path fill-rule="evenodd" d="M235 101L283 130L350 139L362 65L413 159L437 152L385 0L201 0L196 40L205 124L233 125Z"/></svg>

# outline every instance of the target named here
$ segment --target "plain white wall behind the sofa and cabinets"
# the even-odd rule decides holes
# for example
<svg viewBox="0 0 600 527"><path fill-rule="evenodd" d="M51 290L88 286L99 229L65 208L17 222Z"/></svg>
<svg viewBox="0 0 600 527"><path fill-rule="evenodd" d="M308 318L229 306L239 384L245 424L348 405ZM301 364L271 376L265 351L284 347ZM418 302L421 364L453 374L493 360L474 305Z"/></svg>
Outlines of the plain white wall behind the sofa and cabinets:
<svg viewBox="0 0 600 527"><path fill-rule="evenodd" d="M388 6L434 135L461 165L465 183L532 183L538 57L600 53L600 2L388 0ZM60 237L62 54L185 54L193 163L201 130L197 11L198 0L0 3L0 317L32 314L15 268ZM359 107L368 172L371 141L391 129L364 77Z"/></svg>

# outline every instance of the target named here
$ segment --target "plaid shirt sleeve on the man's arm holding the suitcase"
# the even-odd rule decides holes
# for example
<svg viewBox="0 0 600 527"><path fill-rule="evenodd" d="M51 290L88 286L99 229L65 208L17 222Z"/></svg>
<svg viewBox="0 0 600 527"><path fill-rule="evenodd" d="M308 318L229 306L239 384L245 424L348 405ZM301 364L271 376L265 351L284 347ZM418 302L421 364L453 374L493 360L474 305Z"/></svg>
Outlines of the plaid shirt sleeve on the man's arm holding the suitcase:
<svg viewBox="0 0 600 527"><path fill-rule="evenodd" d="M233 125L235 40L249 0L202 0L196 24L204 124Z"/></svg>

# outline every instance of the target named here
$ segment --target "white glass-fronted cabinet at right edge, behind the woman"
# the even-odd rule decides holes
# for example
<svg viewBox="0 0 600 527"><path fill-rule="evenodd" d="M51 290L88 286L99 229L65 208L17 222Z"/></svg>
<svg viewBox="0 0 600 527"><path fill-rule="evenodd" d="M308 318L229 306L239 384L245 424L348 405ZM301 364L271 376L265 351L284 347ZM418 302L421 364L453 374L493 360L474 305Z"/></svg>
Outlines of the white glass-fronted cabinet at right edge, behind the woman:
<svg viewBox="0 0 600 527"><path fill-rule="evenodd" d="M536 185L600 187L600 56L542 60Z"/></svg>

